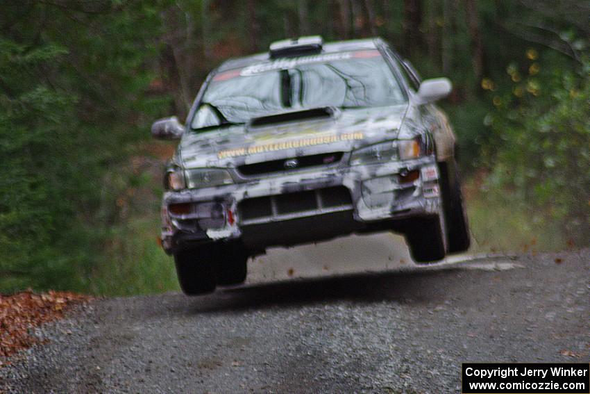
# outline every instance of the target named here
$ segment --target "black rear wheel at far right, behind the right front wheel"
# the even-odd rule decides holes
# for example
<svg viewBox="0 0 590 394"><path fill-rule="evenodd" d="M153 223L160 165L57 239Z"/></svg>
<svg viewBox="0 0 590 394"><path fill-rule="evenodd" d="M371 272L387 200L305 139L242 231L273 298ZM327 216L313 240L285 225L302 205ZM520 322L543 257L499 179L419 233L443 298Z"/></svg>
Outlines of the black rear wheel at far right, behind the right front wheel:
<svg viewBox="0 0 590 394"><path fill-rule="evenodd" d="M441 163L441 190L448 234L448 252L465 252L471 245L469 224L456 165Z"/></svg>

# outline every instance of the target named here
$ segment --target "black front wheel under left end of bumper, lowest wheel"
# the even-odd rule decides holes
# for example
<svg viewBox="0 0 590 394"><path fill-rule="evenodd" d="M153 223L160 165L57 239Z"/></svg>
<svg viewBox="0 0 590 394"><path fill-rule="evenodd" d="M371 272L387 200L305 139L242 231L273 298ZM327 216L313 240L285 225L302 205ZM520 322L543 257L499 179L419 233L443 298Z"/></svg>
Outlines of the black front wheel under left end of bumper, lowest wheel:
<svg viewBox="0 0 590 394"><path fill-rule="evenodd" d="M217 286L217 264L211 248L187 249L174 255L176 274L183 293L211 293Z"/></svg>

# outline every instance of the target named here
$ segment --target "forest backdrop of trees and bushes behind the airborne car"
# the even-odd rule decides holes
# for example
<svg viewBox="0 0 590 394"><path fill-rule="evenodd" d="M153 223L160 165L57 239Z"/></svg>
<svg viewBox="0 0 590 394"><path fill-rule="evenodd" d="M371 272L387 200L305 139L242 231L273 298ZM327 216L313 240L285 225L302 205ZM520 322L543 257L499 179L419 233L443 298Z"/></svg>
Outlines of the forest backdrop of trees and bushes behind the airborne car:
<svg viewBox="0 0 590 394"><path fill-rule="evenodd" d="M549 219L559 233L587 242L588 63L574 72L587 18L548 0L479 1L471 19L465 6L464 0L3 3L0 291L176 288L170 259L154 241L159 180L130 165L140 155L136 147L149 138L153 119L187 113L211 67L303 34L381 35L424 77L450 77L455 90L444 109L463 172L491 174L489 194L519 207L509 221L523 238ZM484 49L479 74L474 20ZM485 206L472 213L487 234L496 229L485 220Z"/></svg>

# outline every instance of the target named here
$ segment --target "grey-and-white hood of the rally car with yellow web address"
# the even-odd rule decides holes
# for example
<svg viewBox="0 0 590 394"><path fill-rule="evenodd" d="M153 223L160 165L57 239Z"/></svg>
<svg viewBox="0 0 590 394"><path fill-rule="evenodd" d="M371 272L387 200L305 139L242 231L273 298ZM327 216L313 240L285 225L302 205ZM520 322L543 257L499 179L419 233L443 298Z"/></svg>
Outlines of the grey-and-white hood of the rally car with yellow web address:
<svg viewBox="0 0 590 394"><path fill-rule="evenodd" d="M185 133L178 159L185 168L236 167L336 151L397 137L407 104L338 110L327 119L267 124L233 125L205 132Z"/></svg>

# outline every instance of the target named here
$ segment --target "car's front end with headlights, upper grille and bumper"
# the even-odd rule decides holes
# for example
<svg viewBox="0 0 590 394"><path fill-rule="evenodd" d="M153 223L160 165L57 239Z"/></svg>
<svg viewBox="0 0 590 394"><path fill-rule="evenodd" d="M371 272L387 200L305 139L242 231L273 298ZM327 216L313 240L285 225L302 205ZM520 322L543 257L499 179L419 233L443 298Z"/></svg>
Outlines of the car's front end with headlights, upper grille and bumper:
<svg viewBox="0 0 590 394"><path fill-rule="evenodd" d="M258 145L264 153L247 155L257 151L248 147L239 158L231 156L240 149L220 151L221 168L173 165L162 202L163 247L174 253L239 240L262 251L437 215L439 172L428 134L363 145L365 133L265 142ZM345 143L331 142L334 136ZM360 147L344 151L349 141Z"/></svg>

